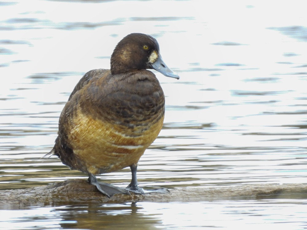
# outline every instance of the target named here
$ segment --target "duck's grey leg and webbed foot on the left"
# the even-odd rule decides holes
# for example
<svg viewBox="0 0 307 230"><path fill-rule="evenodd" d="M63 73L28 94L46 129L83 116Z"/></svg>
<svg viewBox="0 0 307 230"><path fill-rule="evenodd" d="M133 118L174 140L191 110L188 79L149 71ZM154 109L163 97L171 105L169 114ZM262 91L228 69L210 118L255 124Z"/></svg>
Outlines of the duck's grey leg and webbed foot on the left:
<svg viewBox="0 0 307 230"><path fill-rule="evenodd" d="M130 193L126 189L122 189L120 187L110 185L108 183L98 182L97 178L88 172L88 182L92 185L95 185L99 192L106 195L107 197L112 197L115 194L124 193L130 195Z"/></svg>

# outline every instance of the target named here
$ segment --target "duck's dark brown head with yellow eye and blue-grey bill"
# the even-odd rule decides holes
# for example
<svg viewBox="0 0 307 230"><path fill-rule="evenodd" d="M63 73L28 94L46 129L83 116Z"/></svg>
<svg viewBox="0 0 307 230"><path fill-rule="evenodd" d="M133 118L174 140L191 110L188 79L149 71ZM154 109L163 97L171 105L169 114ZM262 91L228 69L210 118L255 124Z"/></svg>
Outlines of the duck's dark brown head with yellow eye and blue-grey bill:
<svg viewBox="0 0 307 230"><path fill-rule="evenodd" d="M161 74L179 79L163 62L159 44L152 36L131 33L115 47L111 56L111 73L119 74L131 69L155 69Z"/></svg>

